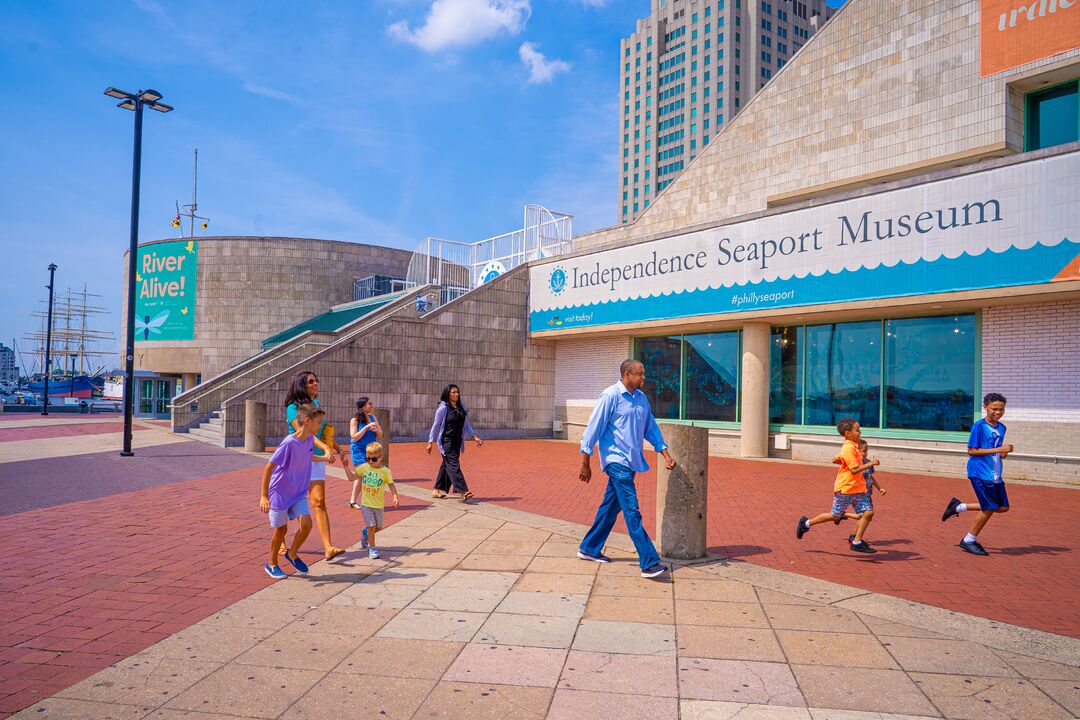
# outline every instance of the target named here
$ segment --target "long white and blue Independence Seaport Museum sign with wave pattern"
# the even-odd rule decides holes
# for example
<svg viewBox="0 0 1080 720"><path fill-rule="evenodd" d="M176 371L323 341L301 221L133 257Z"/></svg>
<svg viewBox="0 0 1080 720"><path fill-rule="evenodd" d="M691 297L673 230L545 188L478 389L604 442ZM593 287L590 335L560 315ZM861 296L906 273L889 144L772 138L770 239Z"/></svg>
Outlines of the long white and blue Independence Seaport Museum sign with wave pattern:
<svg viewBox="0 0 1080 720"><path fill-rule="evenodd" d="M1076 280L1080 153L529 269L532 332Z"/></svg>

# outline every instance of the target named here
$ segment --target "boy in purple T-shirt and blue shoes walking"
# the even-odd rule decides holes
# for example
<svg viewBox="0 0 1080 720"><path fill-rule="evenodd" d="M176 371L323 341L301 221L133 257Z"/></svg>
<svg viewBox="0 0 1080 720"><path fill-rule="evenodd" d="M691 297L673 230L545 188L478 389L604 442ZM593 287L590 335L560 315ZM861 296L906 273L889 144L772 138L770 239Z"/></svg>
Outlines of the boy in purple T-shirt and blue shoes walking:
<svg viewBox="0 0 1080 720"><path fill-rule="evenodd" d="M298 555L303 541L311 532L311 515L308 511L308 485L311 481L311 463L325 462L328 456L315 456L314 434L319 432L326 413L311 404L297 408L296 419L299 430L286 435L270 462L262 470L262 494L259 510L269 513L270 560L264 566L266 573L274 580L286 578L278 567L278 553L285 541L288 521L300 518L300 529L293 538L292 548L285 549L285 559L301 575L308 574L308 565Z"/></svg>

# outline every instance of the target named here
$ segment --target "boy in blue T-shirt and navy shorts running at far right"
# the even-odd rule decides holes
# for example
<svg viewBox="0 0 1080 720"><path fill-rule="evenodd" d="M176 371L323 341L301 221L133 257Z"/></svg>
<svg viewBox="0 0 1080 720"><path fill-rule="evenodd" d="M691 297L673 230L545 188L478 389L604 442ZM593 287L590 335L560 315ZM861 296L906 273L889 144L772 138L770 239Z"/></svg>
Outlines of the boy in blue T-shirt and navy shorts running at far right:
<svg viewBox="0 0 1080 720"><path fill-rule="evenodd" d="M972 555L989 555L978 544L978 533L995 513L1009 512L1009 495L1005 494L1001 472L1001 461L1013 451L1012 445L1004 444L1005 424L1001 422L1001 417L1005 413L1005 396L1000 393L987 394L983 398L983 409L986 410L986 417L972 425L971 438L968 440L968 479L978 502L962 503L953 498L942 514L944 522L969 510L978 512L971 530L960 541L960 549Z"/></svg>

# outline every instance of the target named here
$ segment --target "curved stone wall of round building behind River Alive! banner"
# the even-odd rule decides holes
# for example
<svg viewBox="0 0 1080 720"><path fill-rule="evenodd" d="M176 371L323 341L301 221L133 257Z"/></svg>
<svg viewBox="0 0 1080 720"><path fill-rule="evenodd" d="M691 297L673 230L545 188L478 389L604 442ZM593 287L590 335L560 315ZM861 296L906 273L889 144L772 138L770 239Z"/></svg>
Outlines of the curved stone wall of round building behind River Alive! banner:
<svg viewBox="0 0 1080 720"><path fill-rule="evenodd" d="M404 277L411 258L408 250L303 237L198 242L194 340L136 342L138 369L208 379L260 352L266 338L352 301L356 277ZM125 288L126 269L125 253ZM123 307L126 322L126 291Z"/></svg>

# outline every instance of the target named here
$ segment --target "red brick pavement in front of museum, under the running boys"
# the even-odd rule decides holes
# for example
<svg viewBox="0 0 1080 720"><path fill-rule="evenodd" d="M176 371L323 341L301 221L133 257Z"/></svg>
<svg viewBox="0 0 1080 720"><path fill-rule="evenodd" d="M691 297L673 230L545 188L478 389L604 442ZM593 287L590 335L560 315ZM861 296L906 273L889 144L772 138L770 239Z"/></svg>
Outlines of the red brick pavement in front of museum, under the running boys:
<svg viewBox="0 0 1080 720"><path fill-rule="evenodd" d="M652 457L647 453L647 457ZM651 460L650 460L651 462ZM473 445L462 457L470 488L494 502L573 522L591 524L606 478L593 461L593 480L577 477L577 447L551 440ZM430 485L437 456L420 444L395 444L399 479ZM1080 491L1010 485L1013 510L990 520L981 541L991 557L963 554L956 544L972 521L946 524L941 514L954 494L971 499L966 478L878 472L885 497L867 532L878 554L854 555L852 522L816 526L795 539L800 515L828 512L833 466L712 458L710 549L756 565L829 580L1050 633L1080 638ZM656 516L656 472L638 478L638 498L650 534ZM622 521L617 529L625 532Z"/></svg>

